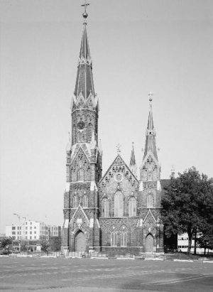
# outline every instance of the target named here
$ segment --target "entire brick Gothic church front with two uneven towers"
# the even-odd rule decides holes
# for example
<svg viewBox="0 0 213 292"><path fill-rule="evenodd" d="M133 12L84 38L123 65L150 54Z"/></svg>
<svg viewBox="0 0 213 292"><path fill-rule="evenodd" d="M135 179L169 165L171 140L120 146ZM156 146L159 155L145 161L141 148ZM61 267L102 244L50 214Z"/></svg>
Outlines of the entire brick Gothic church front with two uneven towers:
<svg viewBox="0 0 213 292"><path fill-rule="evenodd" d="M134 149L127 165L118 153L102 175L98 139L99 100L94 91L87 13L72 97L72 137L67 145L62 249L70 252L163 252L160 164L155 144L152 94L140 175Z"/></svg>

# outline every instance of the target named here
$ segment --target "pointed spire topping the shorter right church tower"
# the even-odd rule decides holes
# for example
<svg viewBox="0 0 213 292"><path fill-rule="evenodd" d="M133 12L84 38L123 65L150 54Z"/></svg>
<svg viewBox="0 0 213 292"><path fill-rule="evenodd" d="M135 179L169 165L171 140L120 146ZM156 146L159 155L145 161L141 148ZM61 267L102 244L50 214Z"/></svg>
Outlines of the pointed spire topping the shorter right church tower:
<svg viewBox="0 0 213 292"><path fill-rule="evenodd" d="M145 151L143 155L143 159L146 157L146 154L149 150L151 150L158 160L156 142L155 142L155 128L153 124L153 109L152 109L152 101L153 101L153 92L148 94L149 97L149 114L148 114L148 125L146 129L146 144L145 144Z"/></svg>

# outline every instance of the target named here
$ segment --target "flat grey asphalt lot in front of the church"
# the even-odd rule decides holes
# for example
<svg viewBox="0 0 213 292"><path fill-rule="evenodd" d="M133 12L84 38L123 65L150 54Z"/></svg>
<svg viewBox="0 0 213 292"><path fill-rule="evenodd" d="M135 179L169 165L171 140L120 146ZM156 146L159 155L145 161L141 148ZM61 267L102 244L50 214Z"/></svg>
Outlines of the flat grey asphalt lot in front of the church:
<svg viewBox="0 0 213 292"><path fill-rule="evenodd" d="M0 291L213 291L213 264L118 259L0 258Z"/></svg>

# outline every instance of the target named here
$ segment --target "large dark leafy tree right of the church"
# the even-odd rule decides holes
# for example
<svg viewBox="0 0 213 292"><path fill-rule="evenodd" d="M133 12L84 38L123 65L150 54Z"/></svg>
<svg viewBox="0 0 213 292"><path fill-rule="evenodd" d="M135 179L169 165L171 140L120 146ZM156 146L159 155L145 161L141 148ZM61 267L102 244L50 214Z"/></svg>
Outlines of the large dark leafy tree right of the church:
<svg viewBox="0 0 213 292"><path fill-rule="evenodd" d="M208 204L211 205L213 201L212 180L207 175L200 175L195 167L178 175L178 178L171 177L162 198L165 235L170 237L171 234L187 232L188 253L194 236L196 253L197 232L204 231L211 217Z"/></svg>

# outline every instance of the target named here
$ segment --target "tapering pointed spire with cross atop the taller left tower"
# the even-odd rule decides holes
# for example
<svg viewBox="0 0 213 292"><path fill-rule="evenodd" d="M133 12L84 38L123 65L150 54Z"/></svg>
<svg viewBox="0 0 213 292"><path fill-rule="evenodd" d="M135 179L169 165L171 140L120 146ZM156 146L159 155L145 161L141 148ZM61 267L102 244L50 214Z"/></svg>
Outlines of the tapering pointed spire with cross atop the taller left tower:
<svg viewBox="0 0 213 292"><path fill-rule="evenodd" d="M89 97L89 94L92 93L94 96L94 83L92 77L92 60L89 52L89 41L87 36L87 4L82 4L84 6L84 13L82 16L84 18L83 23L83 33L82 33L82 42L80 47L80 55L77 66L77 77L75 83L75 96L78 97L81 93L84 99Z"/></svg>

